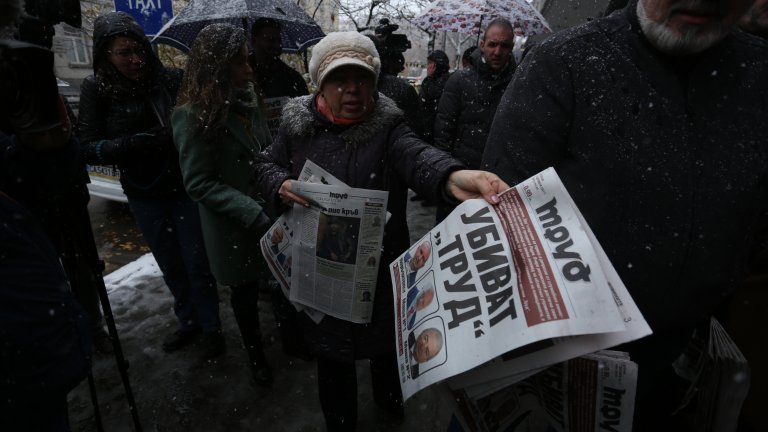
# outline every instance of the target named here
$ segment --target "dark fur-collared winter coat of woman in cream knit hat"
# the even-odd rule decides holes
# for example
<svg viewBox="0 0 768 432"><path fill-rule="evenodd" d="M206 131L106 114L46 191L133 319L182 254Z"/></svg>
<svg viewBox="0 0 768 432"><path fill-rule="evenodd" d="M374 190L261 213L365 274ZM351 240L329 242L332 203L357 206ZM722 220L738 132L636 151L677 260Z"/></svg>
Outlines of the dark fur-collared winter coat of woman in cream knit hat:
<svg viewBox="0 0 768 432"><path fill-rule="evenodd" d="M386 264L410 243L405 214L408 188L447 199L445 181L462 165L418 139L405 125L402 111L385 96L379 97L367 120L352 126L328 122L317 113L314 96L291 100L283 109L277 140L257 157L255 172L263 196L279 206L280 185L296 178L307 159L349 186L389 191L387 210L392 216L384 228L371 324L326 316L316 325L305 319L306 340L317 355L339 361L391 353L395 319Z"/></svg>

